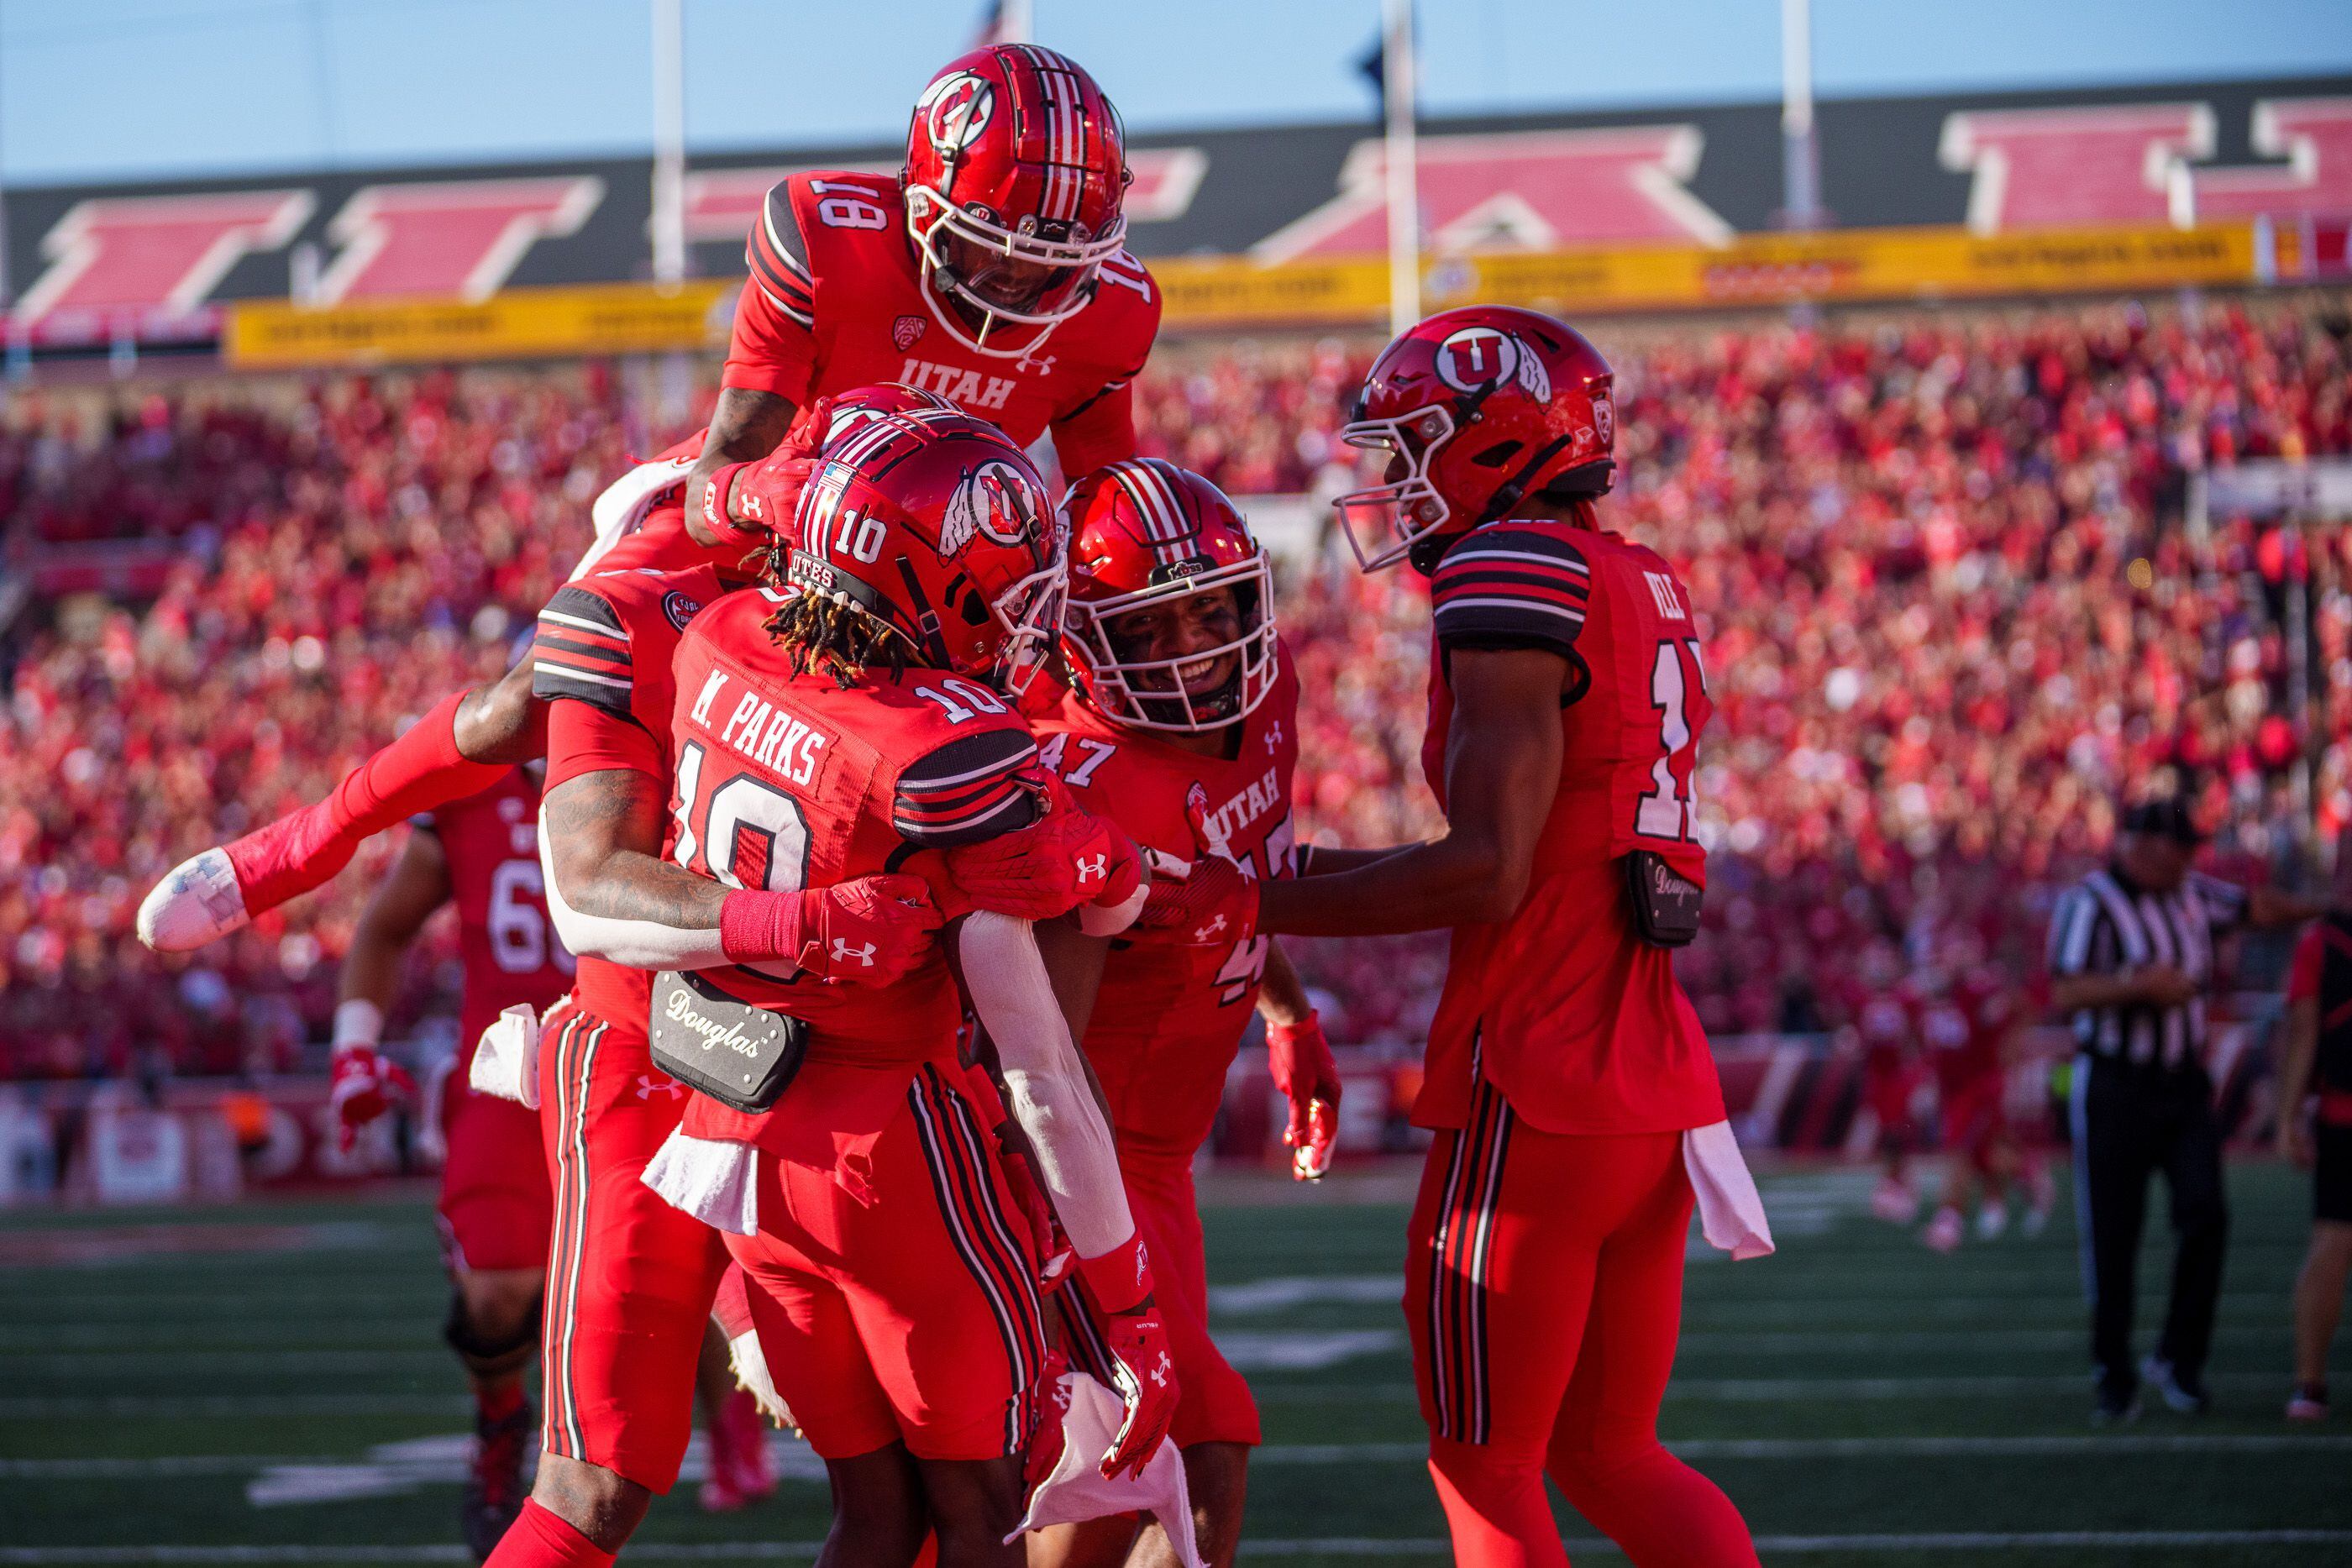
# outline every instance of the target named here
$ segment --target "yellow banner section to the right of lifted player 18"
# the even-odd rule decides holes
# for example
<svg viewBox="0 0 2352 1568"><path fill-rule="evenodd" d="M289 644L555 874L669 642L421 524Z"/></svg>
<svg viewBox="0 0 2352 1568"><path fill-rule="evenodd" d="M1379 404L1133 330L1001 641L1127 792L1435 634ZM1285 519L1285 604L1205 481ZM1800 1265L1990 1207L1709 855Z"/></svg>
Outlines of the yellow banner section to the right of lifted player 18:
<svg viewBox="0 0 2352 1568"><path fill-rule="evenodd" d="M1152 263L1167 324L1355 324L1388 313L1388 263L1341 256L1256 266L1240 256ZM1691 310L1797 301L1985 299L2256 282L2249 223L2206 228L2056 228L1976 235L1966 228L1875 228L1740 235L1724 247L1435 259L1428 308L1498 303L1559 313Z"/></svg>

